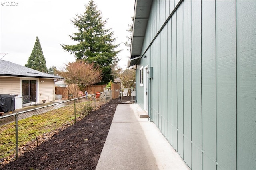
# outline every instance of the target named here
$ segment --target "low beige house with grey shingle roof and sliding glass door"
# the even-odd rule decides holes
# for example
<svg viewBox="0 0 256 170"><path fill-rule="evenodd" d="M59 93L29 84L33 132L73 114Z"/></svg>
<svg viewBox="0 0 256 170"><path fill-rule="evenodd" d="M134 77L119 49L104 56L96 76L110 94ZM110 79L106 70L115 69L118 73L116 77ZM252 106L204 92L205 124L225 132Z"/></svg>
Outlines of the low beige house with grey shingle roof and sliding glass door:
<svg viewBox="0 0 256 170"><path fill-rule="evenodd" d="M62 77L43 73L10 61L0 60L0 94L31 96L32 104L54 101L54 79ZM24 104L24 106L30 103ZM17 108L16 108L17 109Z"/></svg>

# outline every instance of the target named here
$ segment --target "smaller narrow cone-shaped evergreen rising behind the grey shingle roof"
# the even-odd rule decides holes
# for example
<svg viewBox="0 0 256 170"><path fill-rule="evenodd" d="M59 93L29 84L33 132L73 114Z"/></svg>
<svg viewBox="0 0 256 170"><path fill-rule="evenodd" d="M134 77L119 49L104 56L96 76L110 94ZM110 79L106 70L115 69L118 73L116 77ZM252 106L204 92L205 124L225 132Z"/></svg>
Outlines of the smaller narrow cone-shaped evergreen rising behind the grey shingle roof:
<svg viewBox="0 0 256 170"><path fill-rule="evenodd" d="M34 48L25 66L41 72L47 72L46 61L38 37L36 37Z"/></svg>

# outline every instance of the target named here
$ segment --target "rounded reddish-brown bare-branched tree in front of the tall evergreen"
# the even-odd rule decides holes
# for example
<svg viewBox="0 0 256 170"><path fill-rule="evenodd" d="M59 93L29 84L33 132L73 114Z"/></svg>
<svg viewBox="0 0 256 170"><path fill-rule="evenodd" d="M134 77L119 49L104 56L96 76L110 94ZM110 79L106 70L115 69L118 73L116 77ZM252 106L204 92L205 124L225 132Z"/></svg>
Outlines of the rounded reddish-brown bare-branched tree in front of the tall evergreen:
<svg viewBox="0 0 256 170"><path fill-rule="evenodd" d="M66 83L76 84L80 90L88 85L98 83L102 79L102 72L99 67L82 60L65 64L65 68L58 71L58 75L65 78Z"/></svg>

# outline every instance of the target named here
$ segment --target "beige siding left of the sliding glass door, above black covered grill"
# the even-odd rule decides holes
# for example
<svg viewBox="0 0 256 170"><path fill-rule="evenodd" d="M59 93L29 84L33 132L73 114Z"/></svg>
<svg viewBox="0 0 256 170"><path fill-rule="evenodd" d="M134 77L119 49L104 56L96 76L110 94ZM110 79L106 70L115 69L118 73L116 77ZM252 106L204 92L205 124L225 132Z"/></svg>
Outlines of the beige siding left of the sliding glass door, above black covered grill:
<svg viewBox="0 0 256 170"><path fill-rule="evenodd" d="M0 77L0 94L20 95L20 78Z"/></svg>

